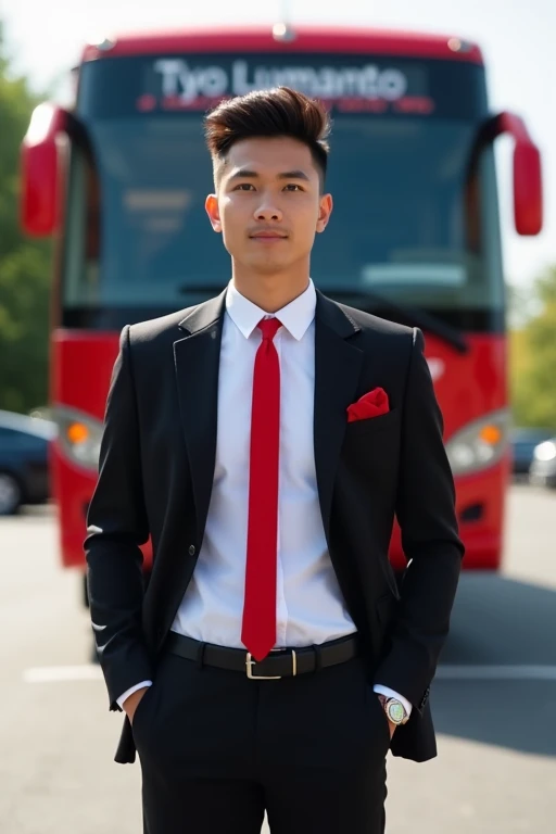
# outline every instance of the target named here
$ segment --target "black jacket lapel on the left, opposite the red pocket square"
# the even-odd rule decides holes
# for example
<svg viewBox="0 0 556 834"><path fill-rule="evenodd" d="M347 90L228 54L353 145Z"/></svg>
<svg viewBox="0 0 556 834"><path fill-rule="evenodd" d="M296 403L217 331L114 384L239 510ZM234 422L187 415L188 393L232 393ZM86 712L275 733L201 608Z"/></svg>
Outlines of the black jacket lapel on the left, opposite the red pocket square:
<svg viewBox="0 0 556 834"><path fill-rule="evenodd" d="M216 458L218 368L226 291L189 313L179 323L187 332L174 342L179 410L202 541Z"/></svg>

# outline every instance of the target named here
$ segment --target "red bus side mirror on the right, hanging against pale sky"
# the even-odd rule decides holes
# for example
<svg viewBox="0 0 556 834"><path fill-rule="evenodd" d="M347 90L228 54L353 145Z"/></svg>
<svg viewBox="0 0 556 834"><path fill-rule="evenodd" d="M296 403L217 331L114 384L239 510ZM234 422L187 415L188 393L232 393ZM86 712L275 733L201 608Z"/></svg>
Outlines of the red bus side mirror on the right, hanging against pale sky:
<svg viewBox="0 0 556 834"><path fill-rule="evenodd" d="M518 235L539 235L543 227L541 153L523 121L513 113L500 113L492 121L493 138L510 134L514 148L514 218Z"/></svg>

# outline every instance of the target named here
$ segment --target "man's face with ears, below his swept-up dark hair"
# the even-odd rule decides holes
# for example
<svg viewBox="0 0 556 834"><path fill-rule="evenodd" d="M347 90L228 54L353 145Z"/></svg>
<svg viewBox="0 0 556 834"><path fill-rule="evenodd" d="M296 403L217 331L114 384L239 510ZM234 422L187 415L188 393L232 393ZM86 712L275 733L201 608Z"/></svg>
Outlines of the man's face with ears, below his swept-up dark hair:
<svg viewBox="0 0 556 834"><path fill-rule="evenodd" d="M308 262L332 198L320 194L319 174L303 142L244 139L230 148L206 211L237 265L271 275Z"/></svg>

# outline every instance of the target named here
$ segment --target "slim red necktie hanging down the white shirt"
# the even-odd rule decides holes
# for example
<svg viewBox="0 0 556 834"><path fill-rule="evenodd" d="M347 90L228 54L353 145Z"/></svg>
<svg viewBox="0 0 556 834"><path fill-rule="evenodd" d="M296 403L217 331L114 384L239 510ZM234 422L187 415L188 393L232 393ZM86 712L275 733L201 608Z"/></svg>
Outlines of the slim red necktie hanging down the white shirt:
<svg viewBox="0 0 556 834"><path fill-rule="evenodd" d="M280 363L273 340L281 325L277 318L263 318L258 327L263 341L256 352L253 374L241 641L256 660L262 660L276 644Z"/></svg>

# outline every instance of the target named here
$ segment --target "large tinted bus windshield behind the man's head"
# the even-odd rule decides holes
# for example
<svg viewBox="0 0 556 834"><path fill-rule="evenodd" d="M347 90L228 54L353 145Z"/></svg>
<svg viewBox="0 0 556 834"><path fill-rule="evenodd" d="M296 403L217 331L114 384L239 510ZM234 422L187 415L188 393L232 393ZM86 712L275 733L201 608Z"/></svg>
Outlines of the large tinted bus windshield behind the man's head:
<svg viewBox="0 0 556 834"><path fill-rule="evenodd" d="M215 294L230 260L204 211L214 189L203 113L90 110L90 152L72 151L66 324L119 326L118 311L139 319ZM318 288L354 306L367 291L455 327L492 327L504 305L494 159L485 148L470 167L482 115L464 116L333 113Z"/></svg>

